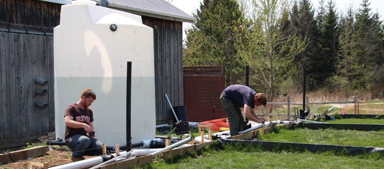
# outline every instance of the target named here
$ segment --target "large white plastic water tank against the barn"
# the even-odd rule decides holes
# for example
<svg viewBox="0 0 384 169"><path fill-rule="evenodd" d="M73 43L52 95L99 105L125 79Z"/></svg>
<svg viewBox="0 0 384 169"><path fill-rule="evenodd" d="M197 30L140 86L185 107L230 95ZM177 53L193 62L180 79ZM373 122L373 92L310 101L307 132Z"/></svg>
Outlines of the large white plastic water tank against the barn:
<svg viewBox="0 0 384 169"><path fill-rule="evenodd" d="M54 28L56 137L64 138L67 105L90 88L97 96L90 107L96 138L107 146L126 145L126 72L132 61L132 143L155 138L153 44L153 29L141 16L87 3L63 5Z"/></svg>

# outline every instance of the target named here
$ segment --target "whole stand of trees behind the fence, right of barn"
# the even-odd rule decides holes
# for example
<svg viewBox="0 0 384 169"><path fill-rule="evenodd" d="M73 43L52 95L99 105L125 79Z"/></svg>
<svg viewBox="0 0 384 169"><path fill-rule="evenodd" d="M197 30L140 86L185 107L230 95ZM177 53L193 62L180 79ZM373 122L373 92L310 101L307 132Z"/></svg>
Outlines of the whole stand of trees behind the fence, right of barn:
<svg viewBox="0 0 384 169"><path fill-rule="evenodd" d="M337 3L337 1L336 1ZM338 15L333 0L204 0L186 31L184 66L223 65L226 85L269 95L300 90L355 90L383 98L384 26L369 0Z"/></svg>

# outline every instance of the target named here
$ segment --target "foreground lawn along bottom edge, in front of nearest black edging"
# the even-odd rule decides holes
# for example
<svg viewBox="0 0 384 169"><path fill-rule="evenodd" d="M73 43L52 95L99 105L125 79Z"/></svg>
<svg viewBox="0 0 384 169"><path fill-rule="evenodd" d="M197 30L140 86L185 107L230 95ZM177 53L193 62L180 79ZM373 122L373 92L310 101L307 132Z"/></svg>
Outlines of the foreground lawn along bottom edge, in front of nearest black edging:
<svg viewBox="0 0 384 169"><path fill-rule="evenodd" d="M333 152L268 152L257 147L237 149L236 145L225 145L141 168L382 168L383 157L377 153L348 156Z"/></svg>

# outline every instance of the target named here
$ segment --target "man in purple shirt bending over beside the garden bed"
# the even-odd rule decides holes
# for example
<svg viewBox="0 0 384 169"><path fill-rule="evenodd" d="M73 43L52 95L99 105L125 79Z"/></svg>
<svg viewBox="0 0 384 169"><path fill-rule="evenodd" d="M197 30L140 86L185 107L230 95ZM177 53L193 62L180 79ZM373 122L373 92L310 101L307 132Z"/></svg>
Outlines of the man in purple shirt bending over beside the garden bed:
<svg viewBox="0 0 384 169"><path fill-rule="evenodd" d="M244 85L231 85L224 89L220 96L220 102L229 121L231 136L236 136L243 130L244 117L241 108L244 108L244 116L249 120L264 123L265 119L254 113L254 107L266 105L267 98L263 93L256 93Z"/></svg>

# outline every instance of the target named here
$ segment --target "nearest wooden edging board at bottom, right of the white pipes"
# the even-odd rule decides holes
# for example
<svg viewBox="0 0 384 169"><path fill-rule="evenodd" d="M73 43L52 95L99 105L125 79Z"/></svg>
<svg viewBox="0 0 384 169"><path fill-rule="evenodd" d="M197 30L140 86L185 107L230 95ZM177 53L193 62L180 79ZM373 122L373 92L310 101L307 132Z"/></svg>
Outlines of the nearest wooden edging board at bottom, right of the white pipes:
<svg viewBox="0 0 384 169"><path fill-rule="evenodd" d="M102 169L117 169L117 168L134 168L141 167L147 163L152 163L152 155L137 157L130 160L120 161L112 164L106 164L98 168Z"/></svg>

